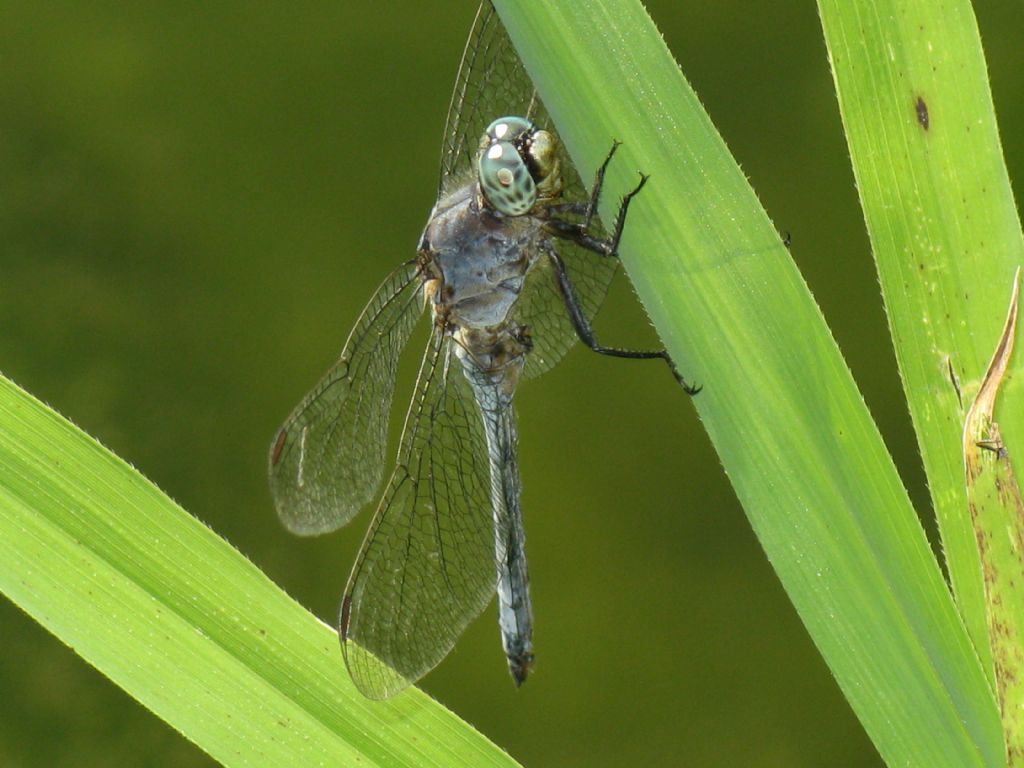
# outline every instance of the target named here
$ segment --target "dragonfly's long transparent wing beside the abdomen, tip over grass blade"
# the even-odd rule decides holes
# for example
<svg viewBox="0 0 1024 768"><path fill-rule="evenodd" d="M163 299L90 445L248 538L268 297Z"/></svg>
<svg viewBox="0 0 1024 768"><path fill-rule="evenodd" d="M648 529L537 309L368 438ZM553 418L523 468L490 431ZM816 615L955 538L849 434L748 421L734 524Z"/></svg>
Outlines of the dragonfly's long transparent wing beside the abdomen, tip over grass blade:
<svg viewBox="0 0 1024 768"><path fill-rule="evenodd" d="M345 664L387 698L433 669L495 592L495 534L482 421L451 342L420 369L398 464L342 600Z"/></svg>

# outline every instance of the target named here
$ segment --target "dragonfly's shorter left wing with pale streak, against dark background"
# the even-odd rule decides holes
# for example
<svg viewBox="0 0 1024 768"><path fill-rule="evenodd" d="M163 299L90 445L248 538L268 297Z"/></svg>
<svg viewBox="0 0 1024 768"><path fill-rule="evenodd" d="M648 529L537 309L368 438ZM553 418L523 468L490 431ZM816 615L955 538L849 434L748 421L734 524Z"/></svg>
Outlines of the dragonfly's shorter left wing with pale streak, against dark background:
<svg viewBox="0 0 1024 768"><path fill-rule="evenodd" d="M384 474L398 357L423 312L419 288L415 262L384 281L341 358L278 432L270 492L290 530L334 530L374 499Z"/></svg>

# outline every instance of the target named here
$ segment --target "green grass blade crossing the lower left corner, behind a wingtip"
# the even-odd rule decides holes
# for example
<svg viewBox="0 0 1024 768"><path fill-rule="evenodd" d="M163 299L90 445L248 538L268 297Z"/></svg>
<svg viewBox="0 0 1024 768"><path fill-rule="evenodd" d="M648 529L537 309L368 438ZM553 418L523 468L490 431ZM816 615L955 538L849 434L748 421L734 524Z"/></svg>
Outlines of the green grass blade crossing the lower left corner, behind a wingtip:
<svg viewBox="0 0 1024 768"><path fill-rule="evenodd" d="M2 378L0 590L224 765L514 765L417 690L365 699L333 629Z"/></svg>

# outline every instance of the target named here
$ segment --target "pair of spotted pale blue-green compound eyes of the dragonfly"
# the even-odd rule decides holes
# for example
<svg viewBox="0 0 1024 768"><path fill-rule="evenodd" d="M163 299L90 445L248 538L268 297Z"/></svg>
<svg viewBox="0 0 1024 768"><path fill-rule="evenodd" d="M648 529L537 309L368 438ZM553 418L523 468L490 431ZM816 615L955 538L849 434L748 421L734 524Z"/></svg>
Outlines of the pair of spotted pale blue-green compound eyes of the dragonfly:
<svg viewBox="0 0 1024 768"><path fill-rule="evenodd" d="M499 118L480 140L477 172L487 203L499 213L522 216L537 202L537 182L522 153L537 128L525 118Z"/></svg>

